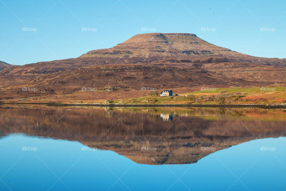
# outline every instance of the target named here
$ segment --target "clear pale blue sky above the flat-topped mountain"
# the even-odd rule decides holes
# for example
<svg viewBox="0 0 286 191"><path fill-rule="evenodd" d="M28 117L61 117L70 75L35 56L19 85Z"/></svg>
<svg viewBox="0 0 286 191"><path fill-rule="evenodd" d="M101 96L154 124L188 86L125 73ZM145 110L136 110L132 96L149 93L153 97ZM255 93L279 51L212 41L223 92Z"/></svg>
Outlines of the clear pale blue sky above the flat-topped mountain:
<svg viewBox="0 0 286 191"><path fill-rule="evenodd" d="M195 33L237 52L286 58L285 7L283 0L0 0L0 60L23 65L75 58L147 33L142 27Z"/></svg>

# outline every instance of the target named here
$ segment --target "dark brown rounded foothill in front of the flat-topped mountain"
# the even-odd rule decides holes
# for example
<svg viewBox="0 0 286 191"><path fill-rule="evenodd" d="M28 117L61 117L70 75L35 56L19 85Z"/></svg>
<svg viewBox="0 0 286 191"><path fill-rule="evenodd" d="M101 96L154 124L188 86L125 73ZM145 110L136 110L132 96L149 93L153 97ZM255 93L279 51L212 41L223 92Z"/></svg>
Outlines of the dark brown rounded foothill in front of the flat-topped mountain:
<svg viewBox="0 0 286 191"><path fill-rule="evenodd" d="M60 76L60 78L59 78ZM207 72L194 66L174 67L172 64L108 64L82 67L70 71L60 71L54 74L37 77L26 81L28 85L37 87L53 87L64 90L72 86L76 88L69 93L81 90L81 87L116 87L117 90L141 90L142 85L175 88L179 84L184 86L198 86L204 82L215 83L221 75ZM236 84L226 78L221 78L224 84ZM246 83L245 81L240 83ZM128 88L128 89L126 89Z"/></svg>

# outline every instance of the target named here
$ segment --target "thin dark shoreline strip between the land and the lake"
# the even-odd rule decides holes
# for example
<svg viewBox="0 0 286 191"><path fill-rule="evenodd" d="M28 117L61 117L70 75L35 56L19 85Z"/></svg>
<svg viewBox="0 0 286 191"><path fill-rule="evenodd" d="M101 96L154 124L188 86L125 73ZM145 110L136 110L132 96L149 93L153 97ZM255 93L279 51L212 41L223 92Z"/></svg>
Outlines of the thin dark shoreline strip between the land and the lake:
<svg viewBox="0 0 286 191"><path fill-rule="evenodd" d="M286 109L286 104L64 104L64 103L38 103L38 102L1 102L0 105L46 105L58 107L224 107L224 108L261 108L261 109Z"/></svg>

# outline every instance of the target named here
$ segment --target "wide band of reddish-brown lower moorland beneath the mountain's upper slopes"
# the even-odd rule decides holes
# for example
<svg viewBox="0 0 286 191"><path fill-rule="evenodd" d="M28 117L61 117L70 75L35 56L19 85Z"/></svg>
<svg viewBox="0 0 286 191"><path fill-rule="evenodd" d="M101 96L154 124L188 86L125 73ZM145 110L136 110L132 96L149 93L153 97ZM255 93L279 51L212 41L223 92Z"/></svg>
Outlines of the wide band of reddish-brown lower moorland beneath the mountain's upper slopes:
<svg viewBox="0 0 286 191"><path fill-rule="evenodd" d="M285 67L243 63L150 63L104 64L58 71L38 76L6 75L1 78L0 101L82 101L107 100L147 96L143 87L160 89L192 87L271 86L285 85ZM23 87L37 91L22 91ZM82 88L96 88L95 92ZM191 88L191 89L190 89ZM193 90L192 90L193 91Z"/></svg>

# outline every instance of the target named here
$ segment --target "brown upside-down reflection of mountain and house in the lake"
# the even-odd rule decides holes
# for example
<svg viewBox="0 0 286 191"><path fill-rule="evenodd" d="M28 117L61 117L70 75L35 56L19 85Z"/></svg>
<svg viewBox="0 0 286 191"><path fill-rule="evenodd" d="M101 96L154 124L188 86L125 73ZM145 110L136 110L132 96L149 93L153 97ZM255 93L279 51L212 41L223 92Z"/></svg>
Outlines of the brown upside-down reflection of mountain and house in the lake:
<svg viewBox="0 0 286 191"><path fill-rule="evenodd" d="M79 141L143 164L195 163L215 151L285 135L286 110L2 106L0 136Z"/></svg>

